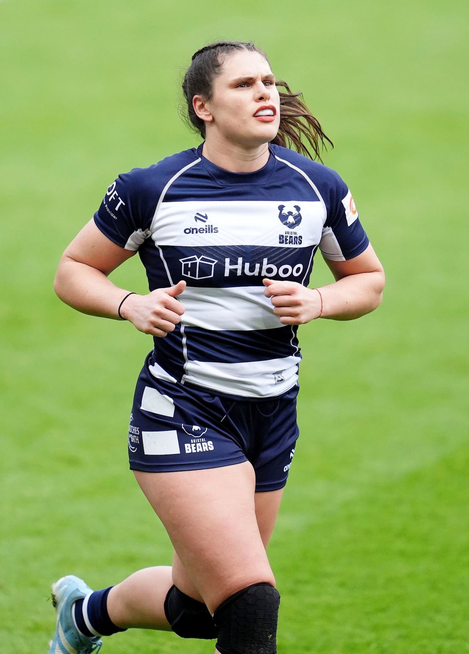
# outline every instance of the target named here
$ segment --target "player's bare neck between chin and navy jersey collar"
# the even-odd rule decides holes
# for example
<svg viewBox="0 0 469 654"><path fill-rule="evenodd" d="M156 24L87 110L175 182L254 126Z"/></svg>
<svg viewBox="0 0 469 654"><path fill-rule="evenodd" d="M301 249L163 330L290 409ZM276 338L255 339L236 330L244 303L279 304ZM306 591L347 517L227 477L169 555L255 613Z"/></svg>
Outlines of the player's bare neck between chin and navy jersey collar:
<svg viewBox="0 0 469 654"><path fill-rule="evenodd" d="M254 173L264 167L269 160L269 144L245 148L240 145L218 139L205 140L203 156L211 163L231 173Z"/></svg>

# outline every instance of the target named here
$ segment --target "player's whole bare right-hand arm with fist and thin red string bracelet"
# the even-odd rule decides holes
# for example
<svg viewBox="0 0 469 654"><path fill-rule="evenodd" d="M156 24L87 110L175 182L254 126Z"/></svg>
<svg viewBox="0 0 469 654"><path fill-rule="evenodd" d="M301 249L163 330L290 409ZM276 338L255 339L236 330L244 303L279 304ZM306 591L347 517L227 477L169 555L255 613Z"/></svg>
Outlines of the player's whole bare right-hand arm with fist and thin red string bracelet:
<svg viewBox="0 0 469 654"><path fill-rule="evenodd" d="M383 297L385 274L371 245L348 261L326 260L336 281L321 286L321 318L353 320L370 313ZM271 298L273 313L283 324L304 324L319 317L321 297L296 282L264 280L264 294Z"/></svg>

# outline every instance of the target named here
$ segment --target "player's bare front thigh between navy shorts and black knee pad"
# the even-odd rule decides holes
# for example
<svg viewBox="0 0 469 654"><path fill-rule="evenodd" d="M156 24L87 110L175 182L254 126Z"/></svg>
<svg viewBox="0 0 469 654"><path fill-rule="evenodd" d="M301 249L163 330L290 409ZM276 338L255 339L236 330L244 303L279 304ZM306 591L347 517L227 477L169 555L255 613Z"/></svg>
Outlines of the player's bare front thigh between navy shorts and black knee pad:
<svg viewBox="0 0 469 654"><path fill-rule="evenodd" d="M275 584L256 520L255 475L249 462L204 470L134 473L212 613L223 600L252 583Z"/></svg>

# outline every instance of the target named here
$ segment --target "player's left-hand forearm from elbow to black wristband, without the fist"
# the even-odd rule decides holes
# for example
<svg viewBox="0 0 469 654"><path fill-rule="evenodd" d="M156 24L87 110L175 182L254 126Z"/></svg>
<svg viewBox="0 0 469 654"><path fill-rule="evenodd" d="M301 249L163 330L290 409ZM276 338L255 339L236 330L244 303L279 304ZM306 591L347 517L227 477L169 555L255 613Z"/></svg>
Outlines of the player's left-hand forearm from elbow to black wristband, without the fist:
<svg viewBox="0 0 469 654"><path fill-rule="evenodd" d="M54 290L60 300L92 316L119 320L117 309L128 290L115 286L100 270L64 255Z"/></svg>

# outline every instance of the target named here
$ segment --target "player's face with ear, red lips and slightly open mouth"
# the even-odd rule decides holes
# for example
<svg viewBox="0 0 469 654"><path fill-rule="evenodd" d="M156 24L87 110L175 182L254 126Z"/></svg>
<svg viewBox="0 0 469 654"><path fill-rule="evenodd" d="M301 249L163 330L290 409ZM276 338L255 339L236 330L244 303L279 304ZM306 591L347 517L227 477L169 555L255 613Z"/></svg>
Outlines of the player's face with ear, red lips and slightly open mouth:
<svg viewBox="0 0 469 654"><path fill-rule="evenodd" d="M268 143L280 123L280 98L268 62L258 52L227 56L210 100L196 95L194 109L205 120L207 141L226 139L245 148Z"/></svg>

